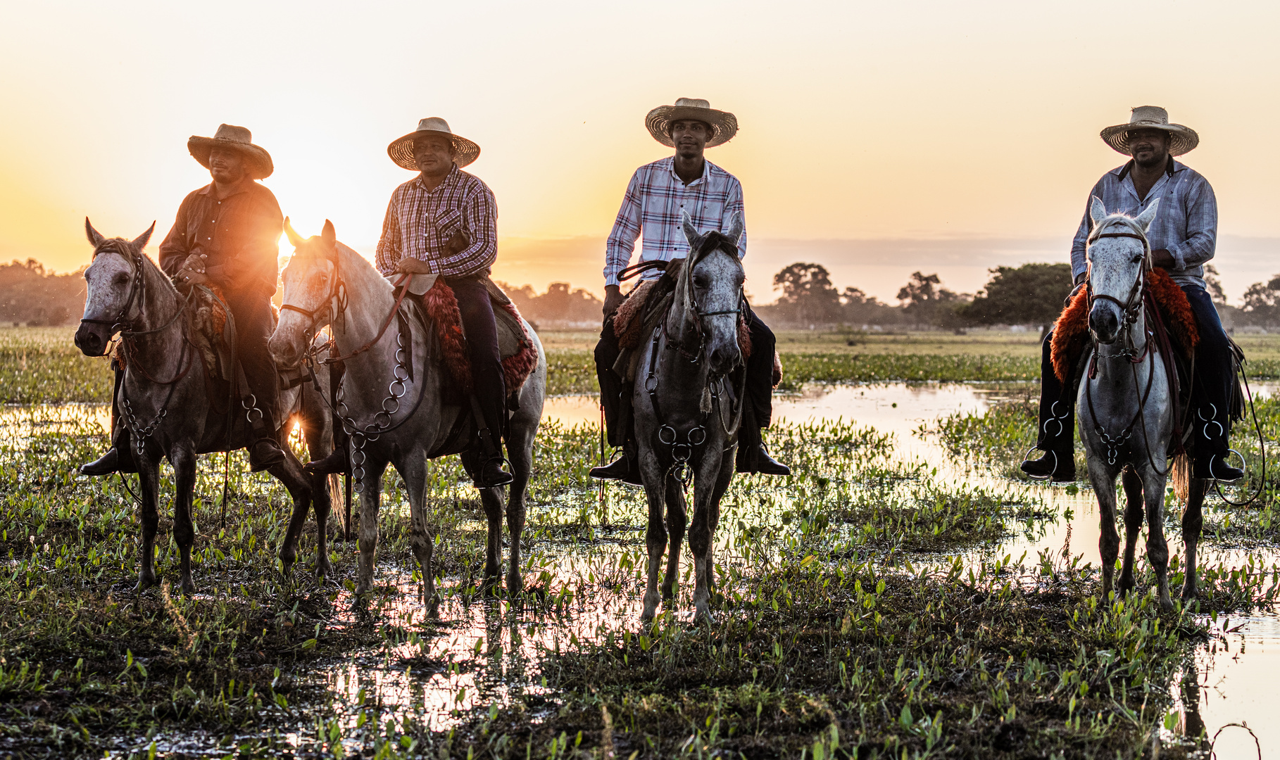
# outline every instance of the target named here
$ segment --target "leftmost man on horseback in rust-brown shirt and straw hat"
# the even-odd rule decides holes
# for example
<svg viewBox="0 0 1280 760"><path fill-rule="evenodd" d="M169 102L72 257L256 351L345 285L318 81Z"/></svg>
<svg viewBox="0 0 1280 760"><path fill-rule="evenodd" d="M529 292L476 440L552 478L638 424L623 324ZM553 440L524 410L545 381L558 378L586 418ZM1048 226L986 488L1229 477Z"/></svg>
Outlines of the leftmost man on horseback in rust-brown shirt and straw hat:
<svg viewBox="0 0 1280 760"><path fill-rule="evenodd" d="M244 368L253 407L261 412L248 415L255 434L248 461L257 472L284 462L273 430L280 380L266 351L275 329L271 296L284 218L271 191L255 182L270 177L274 166L270 154L253 145L248 129L230 124L219 125L214 137L192 136L187 150L209 169L212 182L183 198L173 229L160 243L160 269L179 289L201 284L221 289L236 321L236 356ZM129 430L119 424L116 413L123 375L115 368L111 448L81 466L82 475L138 471L128 445Z"/></svg>

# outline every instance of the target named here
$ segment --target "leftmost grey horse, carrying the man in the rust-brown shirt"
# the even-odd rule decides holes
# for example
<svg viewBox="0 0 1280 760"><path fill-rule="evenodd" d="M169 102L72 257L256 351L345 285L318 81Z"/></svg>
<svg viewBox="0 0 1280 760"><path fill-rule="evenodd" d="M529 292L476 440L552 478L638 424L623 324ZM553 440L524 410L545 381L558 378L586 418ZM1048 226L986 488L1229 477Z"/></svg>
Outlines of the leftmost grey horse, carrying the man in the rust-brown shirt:
<svg viewBox="0 0 1280 760"><path fill-rule="evenodd" d="M137 589L155 586L154 554L159 522L160 458L168 457L174 472L173 537L180 553L182 590L195 591L191 578L191 546L195 530L191 502L196 486L196 455L242 449L253 443L247 415L218 409L212 395L228 395L215 389L202 368L197 348L191 342L192 310L187 297L178 292L169 276L147 258L146 247L155 224L145 233L127 241L106 238L84 220L84 232L93 244L92 264L84 270L87 294L84 316L76 330L76 345L86 356L104 356L111 347L111 335L119 333L125 357L124 380L114 399L123 411L138 464L142 509L142 566ZM228 315L229 316L229 315ZM280 394L283 418L275 420L278 439L284 440L288 420L298 416L312 455L329 450L332 431L323 412L321 392L306 385ZM225 399L227 403L241 403ZM269 472L288 489L293 498L293 514L284 541L280 563L285 574L297 559L297 542L307 508L314 504L319 536L316 539L316 573L324 577L332 568L325 536L325 519L335 494L326 477L312 477L302 470L288 445L285 461Z"/></svg>

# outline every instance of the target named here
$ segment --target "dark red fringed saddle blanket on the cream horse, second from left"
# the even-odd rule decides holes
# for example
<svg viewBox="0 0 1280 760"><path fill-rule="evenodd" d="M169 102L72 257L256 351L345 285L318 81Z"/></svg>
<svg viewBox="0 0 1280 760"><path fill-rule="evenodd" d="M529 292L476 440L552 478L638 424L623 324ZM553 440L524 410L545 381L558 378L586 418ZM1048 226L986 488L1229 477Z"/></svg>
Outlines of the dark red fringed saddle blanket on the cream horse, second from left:
<svg viewBox="0 0 1280 760"><path fill-rule="evenodd" d="M492 301L494 321L498 322L502 376L507 383L507 394L515 395L538 366L538 349L525 330L516 305L497 297L493 297ZM449 375L457 381L463 394L470 394L474 388L471 360L467 356L467 339L462 334L462 312L458 311L458 298L453 294L453 288L447 285L443 279L435 280L431 289L422 296L422 307L435 325L435 334L440 340L440 353Z"/></svg>

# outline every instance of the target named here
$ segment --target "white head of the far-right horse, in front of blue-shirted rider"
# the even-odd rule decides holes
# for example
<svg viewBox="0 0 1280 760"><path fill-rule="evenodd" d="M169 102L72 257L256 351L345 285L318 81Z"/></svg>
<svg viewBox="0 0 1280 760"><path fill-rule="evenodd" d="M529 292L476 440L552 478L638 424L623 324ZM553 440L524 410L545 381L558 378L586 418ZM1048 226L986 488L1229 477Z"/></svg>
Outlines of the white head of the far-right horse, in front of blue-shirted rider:
<svg viewBox="0 0 1280 760"><path fill-rule="evenodd" d="M1111 344L1142 310L1143 274L1151 269L1147 230L1156 219L1160 201L1135 218L1107 214L1093 198L1089 218L1089 331L1101 344Z"/></svg>

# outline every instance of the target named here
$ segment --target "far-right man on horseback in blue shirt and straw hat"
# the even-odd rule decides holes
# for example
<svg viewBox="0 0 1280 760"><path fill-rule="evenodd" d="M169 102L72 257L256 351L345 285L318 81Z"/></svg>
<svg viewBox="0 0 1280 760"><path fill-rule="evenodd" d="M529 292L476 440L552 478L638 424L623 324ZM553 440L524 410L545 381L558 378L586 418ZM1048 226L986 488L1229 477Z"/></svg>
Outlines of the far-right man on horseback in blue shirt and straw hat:
<svg viewBox="0 0 1280 760"><path fill-rule="evenodd" d="M1193 475L1202 479L1239 480L1244 472L1228 464L1233 360L1230 340L1222 330L1213 301L1204 292L1203 265L1213 258L1217 241L1217 201L1213 188L1198 171L1174 156L1180 156L1199 143L1199 136L1188 127L1171 124L1169 113L1160 106L1133 109L1128 124L1107 127L1103 142L1132 159L1111 171L1089 192L1084 219L1071 243L1074 296L1088 280L1085 242L1092 223L1089 202L1098 198L1108 212L1137 216L1160 201L1160 212L1147 230L1151 256L1156 266L1169 271L1181 287L1196 315L1199 345L1196 348L1196 463ZM1070 298L1068 298L1070 301ZM1036 448L1044 452L1038 459L1023 462L1023 472L1055 481L1075 480L1074 424L1075 397L1073 383L1059 383L1050 358L1052 330L1044 335L1041 361L1039 429Z"/></svg>

